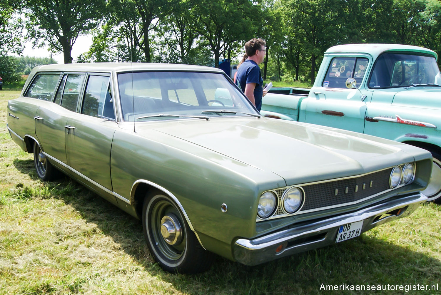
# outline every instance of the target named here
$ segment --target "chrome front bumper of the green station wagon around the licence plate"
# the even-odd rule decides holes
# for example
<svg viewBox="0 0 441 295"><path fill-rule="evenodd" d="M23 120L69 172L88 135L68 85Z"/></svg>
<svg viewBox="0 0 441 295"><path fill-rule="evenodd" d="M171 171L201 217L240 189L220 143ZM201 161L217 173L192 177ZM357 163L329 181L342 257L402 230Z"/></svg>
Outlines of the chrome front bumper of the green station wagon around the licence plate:
<svg viewBox="0 0 441 295"><path fill-rule="evenodd" d="M332 245L336 243L340 225L363 220L361 232L366 232L377 225L408 216L426 200L427 197L423 194L413 194L344 215L314 220L308 224L303 223L255 239L238 239L233 245L233 255L235 260L245 265L258 265L284 256ZM277 253L276 249L280 245L283 245L281 247L284 249Z"/></svg>

